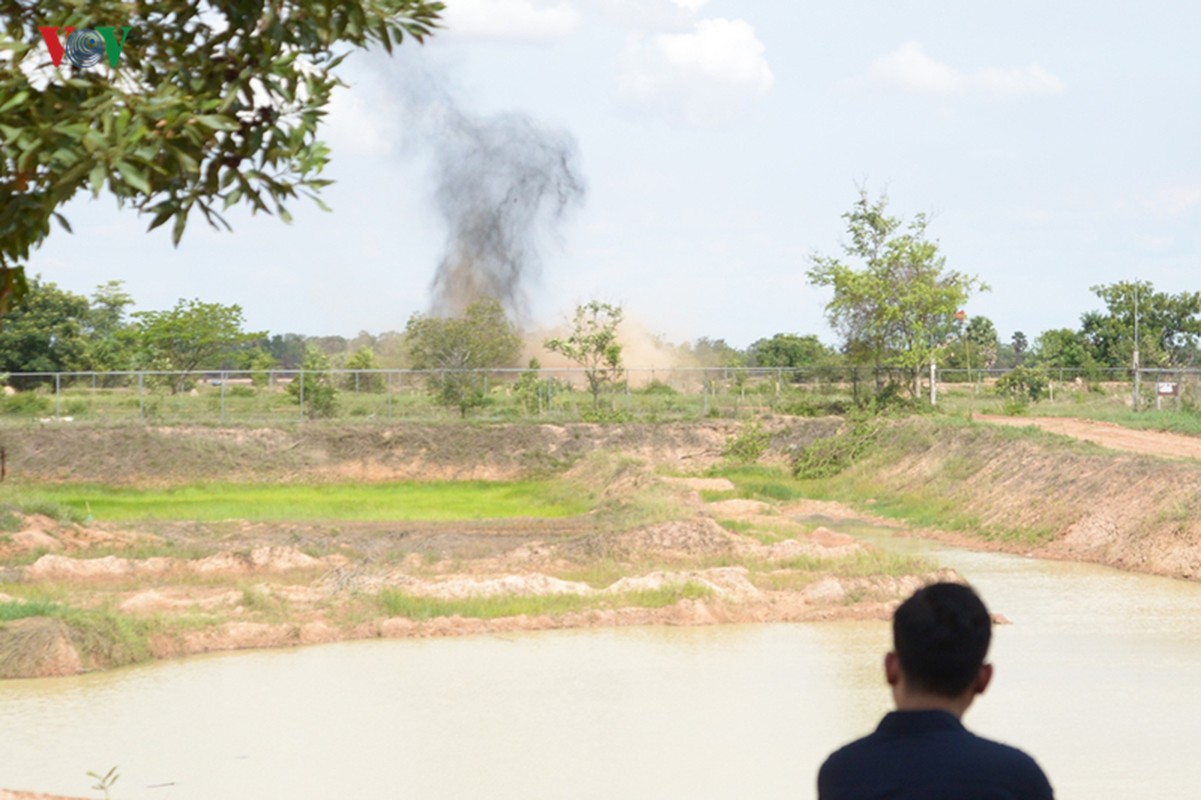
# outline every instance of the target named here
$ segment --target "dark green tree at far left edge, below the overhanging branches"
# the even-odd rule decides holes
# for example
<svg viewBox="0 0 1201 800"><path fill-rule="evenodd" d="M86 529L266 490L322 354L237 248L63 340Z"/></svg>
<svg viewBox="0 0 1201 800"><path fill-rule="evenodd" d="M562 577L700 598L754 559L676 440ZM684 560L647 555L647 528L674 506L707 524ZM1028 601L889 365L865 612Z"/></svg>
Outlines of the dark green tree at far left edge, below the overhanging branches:
<svg viewBox="0 0 1201 800"><path fill-rule="evenodd" d="M65 372L85 368L88 339L88 298L60 289L55 283L30 281L29 292L10 311L0 328L0 371ZM49 378L18 378L16 388L42 383Z"/></svg>

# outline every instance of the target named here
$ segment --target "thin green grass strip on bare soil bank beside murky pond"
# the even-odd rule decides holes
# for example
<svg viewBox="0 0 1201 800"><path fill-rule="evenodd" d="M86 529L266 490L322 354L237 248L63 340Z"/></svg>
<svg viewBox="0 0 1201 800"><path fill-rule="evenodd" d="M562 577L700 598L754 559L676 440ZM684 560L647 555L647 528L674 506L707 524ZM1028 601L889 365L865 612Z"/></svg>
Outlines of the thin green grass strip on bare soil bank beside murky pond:
<svg viewBox="0 0 1201 800"><path fill-rule="evenodd" d="M620 595L501 595L497 597L466 597L442 599L417 597L395 589L383 589L376 599L389 616L411 620L431 620L442 616L462 616L495 620L506 616L544 616L587 611L603 608L667 608L682 599L706 599L712 591L694 581L661 589L649 589Z"/></svg>

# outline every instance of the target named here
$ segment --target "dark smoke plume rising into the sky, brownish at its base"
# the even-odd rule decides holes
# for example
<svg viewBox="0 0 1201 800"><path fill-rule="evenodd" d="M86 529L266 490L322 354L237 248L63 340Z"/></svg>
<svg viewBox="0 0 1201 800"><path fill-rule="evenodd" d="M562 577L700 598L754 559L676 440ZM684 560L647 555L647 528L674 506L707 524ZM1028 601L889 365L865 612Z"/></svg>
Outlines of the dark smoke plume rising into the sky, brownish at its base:
<svg viewBox="0 0 1201 800"><path fill-rule="evenodd" d="M431 309L456 316L488 295L521 320L542 249L584 201L575 137L522 114L468 114L430 85L411 96L410 111L434 156L434 197L447 225Z"/></svg>

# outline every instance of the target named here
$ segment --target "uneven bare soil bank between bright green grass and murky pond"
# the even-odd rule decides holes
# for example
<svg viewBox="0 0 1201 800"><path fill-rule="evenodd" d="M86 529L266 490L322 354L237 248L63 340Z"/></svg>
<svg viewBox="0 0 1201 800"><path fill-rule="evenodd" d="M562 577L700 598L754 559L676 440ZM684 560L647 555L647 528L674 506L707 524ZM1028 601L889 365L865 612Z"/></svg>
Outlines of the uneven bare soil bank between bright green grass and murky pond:
<svg viewBox="0 0 1201 800"><path fill-rule="evenodd" d="M942 575L838 578L789 560L827 561L867 545L790 524L751 501L707 508L698 488L727 482L662 479L623 464L602 502L653 492L676 518L613 530L593 514L567 520L479 523L62 524L24 518L6 537L5 581L22 596L155 621L153 657L376 637L627 625L886 619L916 586ZM716 519L751 526L737 533ZM772 530L770 541L755 527ZM150 530L153 527L153 530ZM632 593L691 586L701 596L643 608ZM498 619L389 617L384 590L464 601L573 595L598 601L573 613ZM11 601L0 596L0 601ZM7 656L5 653L8 653ZM0 627L0 676L65 675L110 665L103 650L53 617Z"/></svg>

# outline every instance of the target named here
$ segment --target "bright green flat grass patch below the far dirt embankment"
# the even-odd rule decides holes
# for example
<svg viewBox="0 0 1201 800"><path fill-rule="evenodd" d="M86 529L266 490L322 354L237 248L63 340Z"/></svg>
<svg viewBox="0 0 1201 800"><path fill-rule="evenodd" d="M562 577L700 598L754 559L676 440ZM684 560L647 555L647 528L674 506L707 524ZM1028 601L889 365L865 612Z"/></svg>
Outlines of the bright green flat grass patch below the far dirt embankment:
<svg viewBox="0 0 1201 800"><path fill-rule="evenodd" d="M561 518L588 511L587 498L551 480L376 484L196 483L169 489L91 484L28 486L26 502L53 502L97 520L245 519L461 520Z"/></svg>

